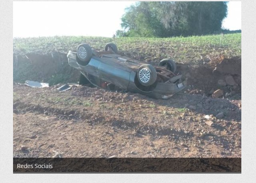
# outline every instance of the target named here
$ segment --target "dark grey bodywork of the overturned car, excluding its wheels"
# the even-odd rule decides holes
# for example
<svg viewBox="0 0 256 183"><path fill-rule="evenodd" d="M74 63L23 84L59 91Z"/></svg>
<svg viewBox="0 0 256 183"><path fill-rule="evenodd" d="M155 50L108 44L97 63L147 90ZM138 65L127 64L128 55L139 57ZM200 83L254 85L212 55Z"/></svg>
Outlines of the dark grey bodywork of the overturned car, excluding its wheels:
<svg viewBox="0 0 256 183"><path fill-rule="evenodd" d="M88 63L79 61L76 51L68 52L68 63L71 67L78 69L85 78L93 85L105 88L102 83L112 83L123 90L141 93L152 98L166 99L173 94L183 90L187 81L181 81L181 75L175 75L168 81L155 82L151 86L142 86L138 83L137 70L145 62L121 56L112 52L93 52L93 56ZM155 67L158 71L161 68ZM167 70L163 73L157 72L158 80L165 78ZM167 73L168 74L168 73Z"/></svg>

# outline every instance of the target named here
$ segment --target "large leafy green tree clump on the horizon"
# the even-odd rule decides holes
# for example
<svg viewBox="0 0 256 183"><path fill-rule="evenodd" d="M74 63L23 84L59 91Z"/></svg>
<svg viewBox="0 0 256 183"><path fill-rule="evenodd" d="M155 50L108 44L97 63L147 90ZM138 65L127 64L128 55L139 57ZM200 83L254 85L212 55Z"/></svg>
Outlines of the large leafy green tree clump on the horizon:
<svg viewBox="0 0 256 183"><path fill-rule="evenodd" d="M130 37L202 35L220 31L226 16L227 2L138 2L126 9L121 26Z"/></svg>

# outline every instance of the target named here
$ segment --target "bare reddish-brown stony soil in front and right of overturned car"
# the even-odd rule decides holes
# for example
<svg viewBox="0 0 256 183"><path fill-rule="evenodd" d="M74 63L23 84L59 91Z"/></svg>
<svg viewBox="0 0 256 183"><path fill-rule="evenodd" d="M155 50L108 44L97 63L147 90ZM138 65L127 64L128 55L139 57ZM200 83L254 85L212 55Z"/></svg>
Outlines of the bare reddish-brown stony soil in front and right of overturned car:
<svg viewBox="0 0 256 183"><path fill-rule="evenodd" d="M13 156L241 157L241 74L221 70L222 62L217 75L217 64L179 64L189 86L168 100L86 86L59 92L59 85L14 84ZM226 75L234 77L235 88L217 85ZM225 96L212 98L215 89Z"/></svg>

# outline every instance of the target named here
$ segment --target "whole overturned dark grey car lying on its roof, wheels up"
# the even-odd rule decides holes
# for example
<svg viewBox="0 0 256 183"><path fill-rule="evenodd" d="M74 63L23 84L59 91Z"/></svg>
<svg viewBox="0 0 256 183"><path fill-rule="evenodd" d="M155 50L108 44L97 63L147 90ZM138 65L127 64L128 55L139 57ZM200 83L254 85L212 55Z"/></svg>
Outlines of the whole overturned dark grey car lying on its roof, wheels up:
<svg viewBox="0 0 256 183"><path fill-rule="evenodd" d="M68 52L68 63L81 72L80 85L94 85L103 89L128 90L157 99L167 99L186 86L180 74L175 74L176 64L163 59L157 67L122 56L113 43L104 50L80 44Z"/></svg>

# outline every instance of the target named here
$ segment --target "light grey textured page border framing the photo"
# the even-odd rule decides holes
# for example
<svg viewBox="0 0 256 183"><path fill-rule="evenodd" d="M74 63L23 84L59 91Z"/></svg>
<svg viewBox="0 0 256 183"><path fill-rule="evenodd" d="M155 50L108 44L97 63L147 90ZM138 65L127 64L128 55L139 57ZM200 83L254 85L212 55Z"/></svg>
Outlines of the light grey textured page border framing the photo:
<svg viewBox="0 0 256 183"><path fill-rule="evenodd" d="M242 174L13 174L12 4L0 1L0 181L2 182L253 182L255 181L255 7L242 1ZM61 2L60 2L61 6ZM46 12L47 13L47 12ZM26 26L26 22L24 22ZM2 178L3 177L3 178Z"/></svg>

